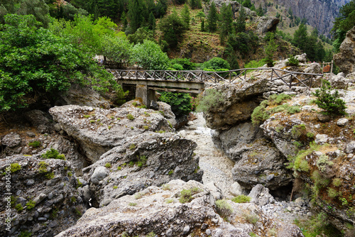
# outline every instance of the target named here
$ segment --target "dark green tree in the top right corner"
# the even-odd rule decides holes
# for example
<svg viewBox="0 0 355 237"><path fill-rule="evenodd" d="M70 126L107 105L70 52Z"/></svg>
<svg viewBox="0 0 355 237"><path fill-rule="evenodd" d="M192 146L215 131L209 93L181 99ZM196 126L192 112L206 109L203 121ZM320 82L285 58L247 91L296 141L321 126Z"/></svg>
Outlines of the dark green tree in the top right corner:
<svg viewBox="0 0 355 237"><path fill-rule="evenodd" d="M335 18L332 28L334 36L334 48L338 51L340 45L345 39L346 32L355 26L355 0L351 0L348 4L339 9L339 15Z"/></svg>

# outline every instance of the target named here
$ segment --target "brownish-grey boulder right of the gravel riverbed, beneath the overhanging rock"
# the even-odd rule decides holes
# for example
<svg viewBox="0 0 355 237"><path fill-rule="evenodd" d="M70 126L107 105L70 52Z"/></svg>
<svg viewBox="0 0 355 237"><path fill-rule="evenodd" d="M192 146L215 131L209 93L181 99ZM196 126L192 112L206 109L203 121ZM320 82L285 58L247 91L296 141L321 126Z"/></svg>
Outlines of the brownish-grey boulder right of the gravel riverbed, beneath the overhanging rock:
<svg viewBox="0 0 355 237"><path fill-rule="evenodd" d="M292 173L283 165L285 157L263 136L263 131L250 122L214 134L214 143L234 160L233 180L245 189L256 184L278 189L292 180Z"/></svg>

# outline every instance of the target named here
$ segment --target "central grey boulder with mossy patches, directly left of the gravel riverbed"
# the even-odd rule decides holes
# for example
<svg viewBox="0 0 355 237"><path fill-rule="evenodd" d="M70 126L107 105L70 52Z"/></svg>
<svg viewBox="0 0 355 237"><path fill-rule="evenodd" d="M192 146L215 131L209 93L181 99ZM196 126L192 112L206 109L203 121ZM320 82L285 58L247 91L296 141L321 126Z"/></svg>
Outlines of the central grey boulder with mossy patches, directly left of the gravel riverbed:
<svg viewBox="0 0 355 237"><path fill-rule="evenodd" d="M193 150L196 143L174 133L149 133L121 140L84 169L92 199L98 206L170 180L202 180Z"/></svg>

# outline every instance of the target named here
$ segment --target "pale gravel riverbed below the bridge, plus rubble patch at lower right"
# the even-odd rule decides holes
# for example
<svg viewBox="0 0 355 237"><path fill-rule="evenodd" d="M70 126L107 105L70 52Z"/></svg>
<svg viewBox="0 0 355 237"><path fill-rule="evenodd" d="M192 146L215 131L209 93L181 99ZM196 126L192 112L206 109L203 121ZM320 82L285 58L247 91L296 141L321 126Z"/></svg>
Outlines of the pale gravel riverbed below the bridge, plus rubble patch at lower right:
<svg viewBox="0 0 355 237"><path fill-rule="evenodd" d="M214 182L214 185L222 190L224 198L231 199L234 197L231 194L231 189L233 189L231 186L234 184L231 169L234 167L234 162L214 145L211 129L207 128L202 113L195 114L195 116L197 118L182 128L179 134L197 143L195 153L200 156L199 165L204 170L202 177L204 184ZM264 214L291 224L295 219L305 219L312 215L309 203L302 197L297 198L295 202L275 201L262 206L261 209Z"/></svg>

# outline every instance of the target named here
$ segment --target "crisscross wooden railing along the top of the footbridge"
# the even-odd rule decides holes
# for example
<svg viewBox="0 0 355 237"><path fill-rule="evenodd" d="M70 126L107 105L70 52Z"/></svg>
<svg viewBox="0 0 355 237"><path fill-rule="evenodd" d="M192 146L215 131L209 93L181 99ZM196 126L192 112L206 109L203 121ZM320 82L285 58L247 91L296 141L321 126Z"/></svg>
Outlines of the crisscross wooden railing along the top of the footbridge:
<svg viewBox="0 0 355 237"><path fill-rule="evenodd" d="M270 81L280 79L288 87L302 85L311 88L315 77L322 77L322 74L292 72L273 67L243 68L223 72L209 72L202 70L191 71L169 71L169 70L109 70L116 79L144 79L144 80L168 80L185 82L235 82L245 81L248 72L256 70L271 71Z"/></svg>

